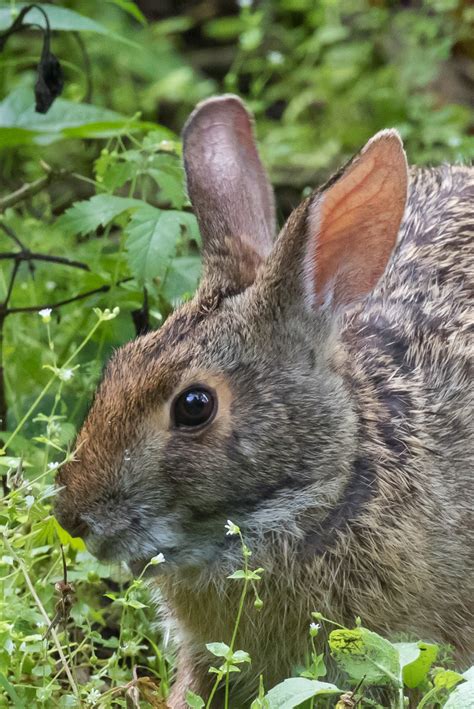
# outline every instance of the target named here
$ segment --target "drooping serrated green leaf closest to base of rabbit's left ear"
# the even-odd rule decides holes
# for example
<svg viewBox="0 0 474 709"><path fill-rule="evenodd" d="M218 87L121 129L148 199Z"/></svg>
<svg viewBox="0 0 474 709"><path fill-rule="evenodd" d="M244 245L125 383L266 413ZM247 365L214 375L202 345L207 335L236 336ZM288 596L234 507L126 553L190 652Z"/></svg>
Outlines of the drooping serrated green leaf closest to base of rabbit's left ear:
<svg viewBox="0 0 474 709"><path fill-rule="evenodd" d="M191 219L190 219L191 217ZM144 206L134 214L125 230L128 264L139 283L152 286L164 278L181 236L181 227L195 223L192 214Z"/></svg>

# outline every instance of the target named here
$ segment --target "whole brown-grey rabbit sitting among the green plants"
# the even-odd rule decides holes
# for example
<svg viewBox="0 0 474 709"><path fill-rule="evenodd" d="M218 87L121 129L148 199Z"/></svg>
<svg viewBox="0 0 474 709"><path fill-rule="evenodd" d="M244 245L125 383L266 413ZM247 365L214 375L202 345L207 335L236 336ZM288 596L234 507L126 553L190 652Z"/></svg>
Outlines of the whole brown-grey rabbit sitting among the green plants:
<svg viewBox="0 0 474 709"><path fill-rule="evenodd" d="M451 643L467 663L473 169L408 168L382 130L275 240L238 97L198 105L183 153L202 280L107 364L58 476L61 525L135 573L163 553L150 568L179 648L173 709L208 697L205 643L232 633L242 558L226 520L264 568L233 707L304 660L311 611Z"/></svg>

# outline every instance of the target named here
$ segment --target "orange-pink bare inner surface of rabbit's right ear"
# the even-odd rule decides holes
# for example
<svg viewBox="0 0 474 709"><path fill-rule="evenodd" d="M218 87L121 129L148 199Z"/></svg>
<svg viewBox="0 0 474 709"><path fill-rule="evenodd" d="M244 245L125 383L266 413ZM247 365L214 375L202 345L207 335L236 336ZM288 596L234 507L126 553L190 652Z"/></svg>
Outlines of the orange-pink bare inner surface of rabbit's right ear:
<svg viewBox="0 0 474 709"><path fill-rule="evenodd" d="M369 293L395 246L407 165L394 132L375 136L346 172L310 205L310 258L318 304L347 305Z"/></svg>

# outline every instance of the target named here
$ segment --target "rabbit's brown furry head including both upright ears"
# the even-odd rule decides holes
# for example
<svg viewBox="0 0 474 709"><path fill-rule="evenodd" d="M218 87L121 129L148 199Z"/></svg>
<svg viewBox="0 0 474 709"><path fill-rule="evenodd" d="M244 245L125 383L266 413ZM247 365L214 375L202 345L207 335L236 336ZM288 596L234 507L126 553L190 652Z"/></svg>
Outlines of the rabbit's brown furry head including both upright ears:
<svg viewBox="0 0 474 709"><path fill-rule="evenodd" d="M341 314L374 288L402 219L398 135L377 134L290 216L274 244L271 188L233 96L184 131L203 239L195 298L108 363L60 472L57 513L102 559L168 569L225 553L230 518L294 534L340 499L356 445Z"/></svg>

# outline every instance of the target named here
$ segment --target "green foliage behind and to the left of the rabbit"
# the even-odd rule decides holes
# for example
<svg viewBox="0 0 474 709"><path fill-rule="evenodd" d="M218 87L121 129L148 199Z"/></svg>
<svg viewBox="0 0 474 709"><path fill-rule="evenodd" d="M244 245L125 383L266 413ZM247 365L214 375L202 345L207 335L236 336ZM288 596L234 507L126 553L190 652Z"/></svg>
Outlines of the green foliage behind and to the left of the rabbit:
<svg viewBox="0 0 474 709"><path fill-rule="evenodd" d="M0 2L0 31L21 6ZM280 221L381 128L400 130L411 162L472 158L474 9L467 0L43 7L65 75L49 112L34 111L38 29L9 37L0 53L0 703L78 701L54 644L41 640L38 600L53 617L61 539L77 593L69 645L64 633L61 642L82 701L108 706L125 702L133 667L146 666L137 676L155 677L166 694L168 658L140 584L125 591L123 570L100 566L58 528L51 484L112 349L158 327L196 286L184 120L206 96L245 98ZM51 320L38 315L48 307ZM120 315L98 320L94 307ZM151 701L146 687L140 696Z"/></svg>

